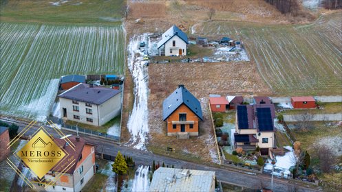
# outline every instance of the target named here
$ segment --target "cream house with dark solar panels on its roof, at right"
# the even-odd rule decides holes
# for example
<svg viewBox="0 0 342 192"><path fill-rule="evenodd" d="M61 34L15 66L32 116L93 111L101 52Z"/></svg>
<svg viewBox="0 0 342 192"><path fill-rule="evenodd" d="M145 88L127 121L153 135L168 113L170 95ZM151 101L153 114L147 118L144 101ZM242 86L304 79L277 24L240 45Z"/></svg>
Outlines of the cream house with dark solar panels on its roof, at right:
<svg viewBox="0 0 342 192"><path fill-rule="evenodd" d="M275 107L273 104L238 105L235 121L234 147L267 156L275 145Z"/></svg>

